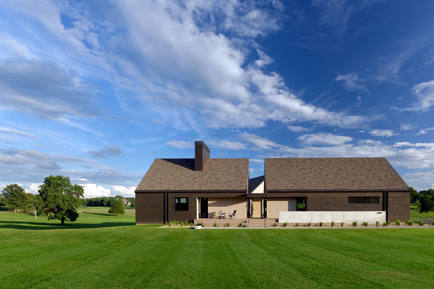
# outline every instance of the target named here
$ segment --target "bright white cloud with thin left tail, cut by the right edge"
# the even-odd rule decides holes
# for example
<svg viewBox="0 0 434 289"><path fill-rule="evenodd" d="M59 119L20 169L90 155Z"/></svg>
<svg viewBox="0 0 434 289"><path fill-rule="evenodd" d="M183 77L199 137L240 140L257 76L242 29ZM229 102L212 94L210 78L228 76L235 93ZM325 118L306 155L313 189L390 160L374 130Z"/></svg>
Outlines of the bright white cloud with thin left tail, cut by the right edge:
<svg viewBox="0 0 434 289"><path fill-rule="evenodd" d="M414 85L411 92L416 97L416 101L410 107L391 108L399 111L427 111L434 105L434 80Z"/></svg>

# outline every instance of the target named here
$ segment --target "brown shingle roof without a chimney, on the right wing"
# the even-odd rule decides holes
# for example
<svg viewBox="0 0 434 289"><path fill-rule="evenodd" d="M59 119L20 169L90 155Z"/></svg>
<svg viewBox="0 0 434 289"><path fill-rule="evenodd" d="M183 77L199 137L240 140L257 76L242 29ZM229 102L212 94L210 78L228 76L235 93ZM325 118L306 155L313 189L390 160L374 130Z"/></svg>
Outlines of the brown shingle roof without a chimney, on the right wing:
<svg viewBox="0 0 434 289"><path fill-rule="evenodd" d="M408 189L385 158L265 159L266 190Z"/></svg>

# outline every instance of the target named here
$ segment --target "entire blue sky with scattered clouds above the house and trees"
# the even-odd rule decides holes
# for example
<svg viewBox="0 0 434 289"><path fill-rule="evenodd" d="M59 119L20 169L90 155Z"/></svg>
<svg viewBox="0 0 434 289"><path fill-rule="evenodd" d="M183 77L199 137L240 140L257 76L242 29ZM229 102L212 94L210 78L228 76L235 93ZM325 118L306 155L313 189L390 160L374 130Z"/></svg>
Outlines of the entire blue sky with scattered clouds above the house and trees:
<svg viewBox="0 0 434 289"><path fill-rule="evenodd" d="M386 157L434 188L434 2L2 1L0 186L155 158Z"/></svg>

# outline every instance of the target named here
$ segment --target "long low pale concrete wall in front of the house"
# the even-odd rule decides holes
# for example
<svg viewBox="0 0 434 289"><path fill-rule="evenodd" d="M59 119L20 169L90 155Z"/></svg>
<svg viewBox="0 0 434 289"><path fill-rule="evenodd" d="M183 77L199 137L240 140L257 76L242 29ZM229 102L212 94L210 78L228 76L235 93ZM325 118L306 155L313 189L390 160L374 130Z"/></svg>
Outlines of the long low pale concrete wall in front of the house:
<svg viewBox="0 0 434 289"><path fill-rule="evenodd" d="M377 214L381 213L381 214ZM352 223L354 221L358 223L368 222L375 224L376 221L383 224L386 221L385 211L279 211L279 223L331 223L344 222Z"/></svg>

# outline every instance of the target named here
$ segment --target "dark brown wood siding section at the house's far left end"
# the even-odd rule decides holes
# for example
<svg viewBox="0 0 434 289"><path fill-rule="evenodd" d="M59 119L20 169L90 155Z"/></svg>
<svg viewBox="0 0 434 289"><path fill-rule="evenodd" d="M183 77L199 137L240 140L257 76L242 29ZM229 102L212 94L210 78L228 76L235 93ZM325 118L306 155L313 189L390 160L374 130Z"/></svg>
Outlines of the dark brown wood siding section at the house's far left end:
<svg viewBox="0 0 434 289"><path fill-rule="evenodd" d="M135 194L136 224L163 224L164 195Z"/></svg>

